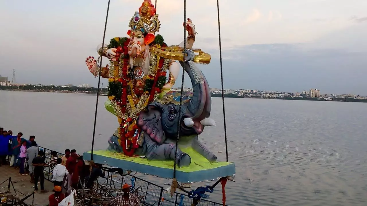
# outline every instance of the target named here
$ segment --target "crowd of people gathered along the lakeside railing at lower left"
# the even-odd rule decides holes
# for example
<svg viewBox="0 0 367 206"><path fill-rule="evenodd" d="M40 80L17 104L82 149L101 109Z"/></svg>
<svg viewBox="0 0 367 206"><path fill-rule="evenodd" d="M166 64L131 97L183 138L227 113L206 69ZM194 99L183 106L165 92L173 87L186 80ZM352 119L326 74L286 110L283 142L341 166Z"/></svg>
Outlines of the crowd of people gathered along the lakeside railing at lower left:
<svg viewBox="0 0 367 206"><path fill-rule="evenodd" d="M83 185L91 189L98 177L105 178L101 164L86 165L83 156L78 155L76 150L66 149L62 157L52 151L50 162L47 163L46 154L37 145L36 137L32 135L26 140L22 136L22 132L13 136L11 130L0 128L0 166L7 165L7 156L11 157L10 166L19 169L19 175L26 176L29 173L34 192L38 191L40 183L41 193L48 192L44 188L44 167L49 166L54 183L54 194L48 198L50 206L58 206L73 189L80 189ZM130 194L130 185L123 185L122 190L123 195L110 201L109 206L139 205L139 199Z"/></svg>

